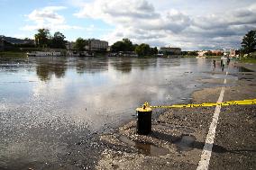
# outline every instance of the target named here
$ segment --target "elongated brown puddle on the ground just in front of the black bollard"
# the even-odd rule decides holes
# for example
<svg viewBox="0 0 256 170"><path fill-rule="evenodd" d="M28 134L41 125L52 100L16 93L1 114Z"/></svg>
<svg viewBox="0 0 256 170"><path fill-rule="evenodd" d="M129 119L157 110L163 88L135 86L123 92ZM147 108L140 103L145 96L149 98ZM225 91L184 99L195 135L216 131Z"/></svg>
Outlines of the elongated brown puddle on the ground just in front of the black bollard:
<svg viewBox="0 0 256 170"><path fill-rule="evenodd" d="M133 141L124 136L120 136L119 139L130 146L138 148L140 152L146 156L165 156L169 154L169 149L161 148L151 143Z"/></svg>

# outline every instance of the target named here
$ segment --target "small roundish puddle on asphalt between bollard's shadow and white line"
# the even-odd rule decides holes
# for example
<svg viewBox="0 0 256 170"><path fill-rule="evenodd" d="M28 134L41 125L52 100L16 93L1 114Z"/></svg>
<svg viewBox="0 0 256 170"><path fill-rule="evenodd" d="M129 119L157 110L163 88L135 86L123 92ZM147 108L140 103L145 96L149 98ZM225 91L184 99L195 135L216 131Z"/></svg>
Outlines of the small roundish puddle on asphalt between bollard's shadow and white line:
<svg viewBox="0 0 256 170"><path fill-rule="evenodd" d="M182 135L180 139L174 142L177 145L178 152L189 151L193 149L196 137L193 135Z"/></svg>

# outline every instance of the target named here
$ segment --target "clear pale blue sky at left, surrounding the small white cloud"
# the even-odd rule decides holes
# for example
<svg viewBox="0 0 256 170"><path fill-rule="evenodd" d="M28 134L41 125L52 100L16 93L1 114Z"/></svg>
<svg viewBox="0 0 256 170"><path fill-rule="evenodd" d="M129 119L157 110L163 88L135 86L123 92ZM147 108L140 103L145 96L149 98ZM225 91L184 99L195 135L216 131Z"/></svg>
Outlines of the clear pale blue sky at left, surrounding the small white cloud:
<svg viewBox="0 0 256 170"><path fill-rule="evenodd" d="M107 33L114 27L108 25L101 20L95 19L80 19L75 17L73 13L78 12L78 6L70 5L69 1L36 1L36 0L0 0L1 9L1 24L0 34L6 36L13 36L18 38L29 37L32 38L36 29L26 29L27 25L35 25L34 21L30 20L27 15L34 10L40 11L41 9L49 6L63 6L65 8L57 10L59 15L65 18L64 25L78 26L81 29L61 29L54 30L50 27L53 34L54 31L63 32L67 40L76 40L78 37L82 38L101 38L103 34ZM11 13L10 13L11 12ZM100 31L93 31L93 28L102 28ZM92 29L91 29L92 28Z"/></svg>

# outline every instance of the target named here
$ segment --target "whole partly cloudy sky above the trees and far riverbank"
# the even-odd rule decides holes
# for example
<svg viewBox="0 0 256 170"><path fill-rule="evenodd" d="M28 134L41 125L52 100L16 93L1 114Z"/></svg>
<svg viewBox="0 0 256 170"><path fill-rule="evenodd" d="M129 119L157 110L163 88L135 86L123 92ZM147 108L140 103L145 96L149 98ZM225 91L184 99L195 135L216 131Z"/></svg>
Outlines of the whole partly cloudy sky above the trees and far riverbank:
<svg viewBox="0 0 256 170"><path fill-rule="evenodd" d="M128 38L157 47L239 49L256 29L255 0L0 0L0 35L33 38L37 29L66 40Z"/></svg>

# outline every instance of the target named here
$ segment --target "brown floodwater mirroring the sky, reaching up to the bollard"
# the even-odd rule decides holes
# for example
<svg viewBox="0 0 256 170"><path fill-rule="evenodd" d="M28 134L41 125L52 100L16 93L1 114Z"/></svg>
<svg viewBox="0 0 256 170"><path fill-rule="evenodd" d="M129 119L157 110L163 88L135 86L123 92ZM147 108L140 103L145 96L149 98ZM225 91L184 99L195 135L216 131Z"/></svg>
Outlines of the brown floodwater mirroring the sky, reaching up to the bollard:
<svg viewBox="0 0 256 170"><path fill-rule="evenodd" d="M204 87L198 80L225 76L215 72L197 58L2 58L0 168L59 164L70 146L135 119L146 101L188 102Z"/></svg>

